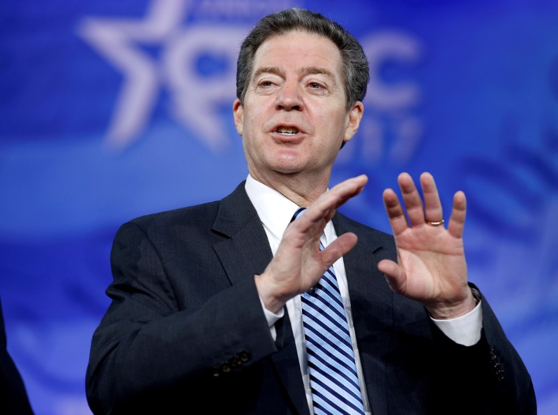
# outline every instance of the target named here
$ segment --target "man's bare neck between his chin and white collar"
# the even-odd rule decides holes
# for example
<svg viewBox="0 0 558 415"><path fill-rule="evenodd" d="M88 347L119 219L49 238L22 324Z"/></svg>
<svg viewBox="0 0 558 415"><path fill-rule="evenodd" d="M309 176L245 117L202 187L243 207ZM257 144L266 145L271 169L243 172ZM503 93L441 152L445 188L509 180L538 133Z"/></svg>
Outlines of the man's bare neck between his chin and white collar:
<svg viewBox="0 0 558 415"><path fill-rule="evenodd" d="M313 201L327 190L329 184L329 171L316 177L316 175L304 174L303 172L273 172L262 175L252 171L252 169L248 170L252 178L278 191L301 208L308 208Z"/></svg>

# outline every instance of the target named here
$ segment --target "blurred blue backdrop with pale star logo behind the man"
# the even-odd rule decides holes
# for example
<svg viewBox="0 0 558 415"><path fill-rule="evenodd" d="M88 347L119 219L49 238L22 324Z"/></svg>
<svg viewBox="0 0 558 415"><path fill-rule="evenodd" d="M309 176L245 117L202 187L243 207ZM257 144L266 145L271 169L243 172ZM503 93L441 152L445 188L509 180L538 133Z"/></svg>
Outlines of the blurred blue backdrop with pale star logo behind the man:
<svg viewBox="0 0 558 415"><path fill-rule="evenodd" d="M248 173L231 106L241 38L303 6L370 59L358 135L332 183L389 231L382 190L430 171L462 189L470 279L558 413L556 1L20 0L0 3L0 296L38 414L89 413L84 372L108 306L116 228L225 196Z"/></svg>

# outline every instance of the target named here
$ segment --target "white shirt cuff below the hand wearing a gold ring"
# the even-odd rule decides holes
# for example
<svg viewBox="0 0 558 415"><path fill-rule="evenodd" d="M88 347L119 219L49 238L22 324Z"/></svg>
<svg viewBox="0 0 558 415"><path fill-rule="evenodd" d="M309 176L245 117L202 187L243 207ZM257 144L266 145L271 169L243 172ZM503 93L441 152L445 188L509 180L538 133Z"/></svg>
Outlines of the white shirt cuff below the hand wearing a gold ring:
<svg viewBox="0 0 558 415"><path fill-rule="evenodd" d="M478 340L481 340L481 329L483 328L483 308L481 302L478 302L472 311L458 318L436 320L431 317L431 319L455 343L463 346L472 346Z"/></svg>

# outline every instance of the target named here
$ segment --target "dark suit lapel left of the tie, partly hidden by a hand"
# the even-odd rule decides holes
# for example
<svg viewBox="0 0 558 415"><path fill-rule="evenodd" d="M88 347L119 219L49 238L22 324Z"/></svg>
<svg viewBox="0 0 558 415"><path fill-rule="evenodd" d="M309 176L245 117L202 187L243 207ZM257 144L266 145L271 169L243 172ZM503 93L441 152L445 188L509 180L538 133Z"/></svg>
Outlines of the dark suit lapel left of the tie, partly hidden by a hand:
<svg viewBox="0 0 558 415"><path fill-rule="evenodd" d="M273 258L264 227L246 194L244 182L220 202L213 231L225 236L213 244L213 249L232 284L262 274ZM296 411L308 414L287 308L284 317L276 323L276 331L278 351L271 355L271 362Z"/></svg>

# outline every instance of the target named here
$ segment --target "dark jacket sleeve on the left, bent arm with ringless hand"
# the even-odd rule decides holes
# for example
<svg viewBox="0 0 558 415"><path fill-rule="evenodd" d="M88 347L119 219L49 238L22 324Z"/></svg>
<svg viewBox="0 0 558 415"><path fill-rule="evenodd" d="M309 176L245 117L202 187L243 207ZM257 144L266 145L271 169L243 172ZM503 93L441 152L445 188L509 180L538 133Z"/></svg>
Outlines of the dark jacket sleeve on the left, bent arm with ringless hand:
<svg viewBox="0 0 558 415"><path fill-rule="evenodd" d="M277 350L253 275L223 290L208 288L201 304L181 309L183 293L175 291L158 249L134 222L114 239L112 304L93 334L86 372L93 412L112 412L176 384L211 382ZM202 285L211 278L196 276Z"/></svg>

